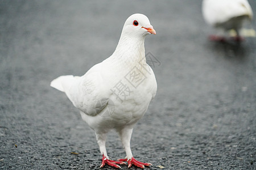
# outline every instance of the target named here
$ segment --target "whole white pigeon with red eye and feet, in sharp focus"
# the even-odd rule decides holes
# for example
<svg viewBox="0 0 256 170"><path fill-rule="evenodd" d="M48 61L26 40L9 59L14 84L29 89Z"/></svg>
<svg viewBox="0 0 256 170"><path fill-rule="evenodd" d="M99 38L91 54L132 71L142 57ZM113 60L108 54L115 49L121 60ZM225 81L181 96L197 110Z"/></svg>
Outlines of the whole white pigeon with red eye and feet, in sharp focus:
<svg viewBox="0 0 256 170"><path fill-rule="evenodd" d="M135 123L143 117L156 94L156 79L145 58L144 39L156 34L147 16L131 15L123 25L112 56L94 65L83 76L63 75L51 86L65 92L80 110L82 119L95 131L102 163L121 168L128 163L144 168L150 163L134 159L130 148ZM126 152L125 159L110 160L106 152L106 134L115 129Z"/></svg>

